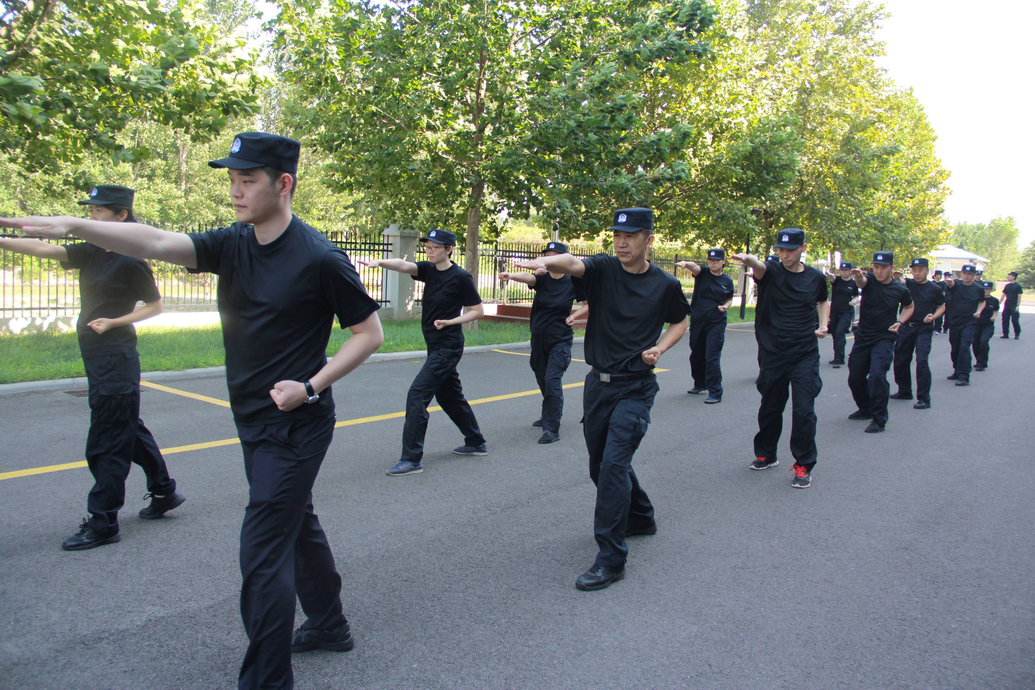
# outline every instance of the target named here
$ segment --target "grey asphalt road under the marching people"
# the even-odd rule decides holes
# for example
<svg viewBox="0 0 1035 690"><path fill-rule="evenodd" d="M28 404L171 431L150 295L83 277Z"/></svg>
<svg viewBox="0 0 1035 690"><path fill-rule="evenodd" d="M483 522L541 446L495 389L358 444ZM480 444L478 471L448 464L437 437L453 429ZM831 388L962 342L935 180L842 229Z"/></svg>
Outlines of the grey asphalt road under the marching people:
<svg viewBox="0 0 1035 690"><path fill-rule="evenodd" d="M1035 333L1031 316L1024 326ZM483 458L450 454L462 439L433 413L416 476L384 474L402 419L338 428L315 503L357 646L296 656L296 687L1035 687L1035 336L994 339L970 388L945 381L936 336L933 409L892 400L882 434L846 419L848 370L824 363L820 462L798 490L790 409L780 466L747 469L756 346L734 328L721 404L686 394L685 343L659 363L671 370L634 464L659 531L630 539L626 579L602 592L573 587L596 552L581 388L552 446L530 425L537 395L477 404ZM418 367L361 367L335 386L338 419L403 410ZM567 383L585 372L573 362ZM535 388L521 355L469 354L461 376L471 399ZM221 379L161 383L227 396ZM225 408L143 400L162 448L235 436ZM85 398L3 395L0 419L0 473L82 459ZM87 470L0 481L0 688L236 687L240 449L168 462L187 502L139 519L135 468L121 543L81 552L60 542L85 513Z"/></svg>

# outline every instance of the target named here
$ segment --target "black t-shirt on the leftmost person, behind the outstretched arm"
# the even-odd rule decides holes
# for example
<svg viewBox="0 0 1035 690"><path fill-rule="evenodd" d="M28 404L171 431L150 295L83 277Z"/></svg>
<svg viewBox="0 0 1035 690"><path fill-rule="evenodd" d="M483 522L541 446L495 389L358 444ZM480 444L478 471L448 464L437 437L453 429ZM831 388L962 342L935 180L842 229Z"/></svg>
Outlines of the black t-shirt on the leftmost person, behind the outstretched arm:
<svg viewBox="0 0 1035 690"><path fill-rule="evenodd" d="M151 267L142 259L106 251L89 242L65 247L68 261L61 266L79 269L80 312L76 327L83 357L137 354L132 324L97 333L87 326L94 319L118 319L137 308L137 302L161 299Z"/></svg>

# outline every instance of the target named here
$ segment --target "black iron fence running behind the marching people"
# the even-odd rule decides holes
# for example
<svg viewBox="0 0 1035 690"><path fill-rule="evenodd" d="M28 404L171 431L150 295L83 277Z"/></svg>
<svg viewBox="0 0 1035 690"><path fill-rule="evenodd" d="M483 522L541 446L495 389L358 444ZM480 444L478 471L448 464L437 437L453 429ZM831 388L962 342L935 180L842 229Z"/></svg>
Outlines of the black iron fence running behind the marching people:
<svg viewBox="0 0 1035 690"><path fill-rule="evenodd" d="M173 226L166 230L182 233L198 233L209 230L207 226ZM357 260L383 259L390 254L392 245L377 233L342 234L331 233L329 239L341 246L352 259L359 271L363 286L371 297L386 304L385 269L372 269L360 266ZM69 244L76 240L56 240L59 245ZM613 250L599 242L568 242L572 254L579 258L595 253L613 253ZM503 283L499 274L514 269L515 261L523 261L540 256L545 241L539 242L495 242L483 244L478 256L478 293L490 303L527 303L531 302L535 293L528 286L510 281ZM456 263L463 265L463 256L455 256ZM423 246L418 244L416 259L424 257ZM656 247L653 250L654 264L672 273L680 279L683 291L692 293L693 280L690 272L676 267L680 261L704 262L693 253L670 247ZM216 291L218 276L211 273L189 273L182 266L165 262L148 262L154 272L158 291L162 297L166 311L214 311L216 309ZM727 266L726 272L736 280L737 269ZM416 299L419 303L423 292L423 283L416 281ZM0 318L50 318L72 317L79 313L79 280L75 271L64 270L59 262L36 259L20 254L7 249L0 249Z"/></svg>

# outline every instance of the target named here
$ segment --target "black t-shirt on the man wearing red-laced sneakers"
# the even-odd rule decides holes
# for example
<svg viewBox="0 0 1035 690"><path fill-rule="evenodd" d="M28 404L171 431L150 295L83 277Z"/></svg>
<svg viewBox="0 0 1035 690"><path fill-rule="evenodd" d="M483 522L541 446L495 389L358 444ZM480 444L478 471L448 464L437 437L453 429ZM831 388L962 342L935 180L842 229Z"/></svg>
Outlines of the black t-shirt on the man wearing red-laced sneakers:
<svg viewBox="0 0 1035 690"><path fill-rule="evenodd" d="M783 264L768 264L759 292L765 291L762 309L756 307L755 337L763 350L788 354L819 350L817 305L829 295L823 273L804 266L800 273Z"/></svg>

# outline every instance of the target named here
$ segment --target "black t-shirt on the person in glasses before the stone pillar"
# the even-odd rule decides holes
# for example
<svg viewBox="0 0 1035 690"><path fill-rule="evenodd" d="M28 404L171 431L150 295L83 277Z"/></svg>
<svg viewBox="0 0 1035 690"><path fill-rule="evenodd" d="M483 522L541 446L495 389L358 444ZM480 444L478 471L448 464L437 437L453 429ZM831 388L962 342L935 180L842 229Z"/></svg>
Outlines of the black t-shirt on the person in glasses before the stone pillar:
<svg viewBox="0 0 1035 690"><path fill-rule="evenodd" d="M446 326L439 331L435 329L435 322L455 319L465 306L481 304L474 278L455 262L449 262L449 268L440 271L430 261L418 261L417 275L413 279L424 283L424 297L420 303L420 329L424 332L427 349L463 349L463 325Z"/></svg>

